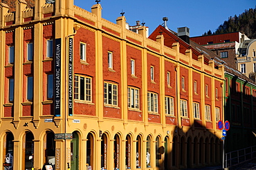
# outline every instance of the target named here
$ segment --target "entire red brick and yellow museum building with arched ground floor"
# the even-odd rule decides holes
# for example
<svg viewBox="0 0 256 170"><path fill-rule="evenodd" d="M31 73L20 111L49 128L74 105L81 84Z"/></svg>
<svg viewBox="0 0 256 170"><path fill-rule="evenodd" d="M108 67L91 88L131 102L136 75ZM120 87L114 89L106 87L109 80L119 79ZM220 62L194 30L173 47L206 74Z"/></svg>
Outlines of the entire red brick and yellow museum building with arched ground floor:
<svg viewBox="0 0 256 170"><path fill-rule="evenodd" d="M111 23L101 10L71 0L37 0L34 8L17 0L15 12L0 4L0 164L219 164L223 65L165 28L154 41L145 26L137 34L124 16Z"/></svg>

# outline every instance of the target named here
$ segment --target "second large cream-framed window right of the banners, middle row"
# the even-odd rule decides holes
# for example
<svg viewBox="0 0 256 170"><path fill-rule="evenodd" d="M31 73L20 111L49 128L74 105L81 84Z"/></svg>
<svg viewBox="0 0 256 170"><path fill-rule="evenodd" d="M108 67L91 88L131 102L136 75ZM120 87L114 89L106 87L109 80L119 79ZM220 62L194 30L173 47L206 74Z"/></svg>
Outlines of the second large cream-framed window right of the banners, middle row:
<svg viewBox="0 0 256 170"><path fill-rule="evenodd" d="M104 104L118 105L118 85L104 83Z"/></svg>

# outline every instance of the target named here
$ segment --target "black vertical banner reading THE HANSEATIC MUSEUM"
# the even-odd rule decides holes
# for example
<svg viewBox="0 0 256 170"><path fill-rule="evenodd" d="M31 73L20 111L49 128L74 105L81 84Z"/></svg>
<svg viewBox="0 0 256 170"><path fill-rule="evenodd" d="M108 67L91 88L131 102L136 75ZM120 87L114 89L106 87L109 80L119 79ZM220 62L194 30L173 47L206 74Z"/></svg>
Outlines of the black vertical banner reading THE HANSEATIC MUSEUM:
<svg viewBox="0 0 256 170"><path fill-rule="evenodd" d="M55 56L54 56L54 116L60 117L60 87L61 87L61 39L55 39Z"/></svg>

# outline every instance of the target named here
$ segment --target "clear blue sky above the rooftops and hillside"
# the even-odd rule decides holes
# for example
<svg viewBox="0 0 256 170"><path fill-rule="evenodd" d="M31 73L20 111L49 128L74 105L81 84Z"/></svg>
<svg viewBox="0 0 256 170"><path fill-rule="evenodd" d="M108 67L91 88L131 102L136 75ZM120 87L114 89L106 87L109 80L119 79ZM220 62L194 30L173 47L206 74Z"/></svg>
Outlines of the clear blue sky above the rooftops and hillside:
<svg viewBox="0 0 256 170"><path fill-rule="evenodd" d="M91 12L95 0L74 0L76 6ZM125 12L129 25L144 21L152 33L162 18L168 17L168 28L174 30L186 26L190 36L201 36L208 30L215 31L228 17L255 8L255 0L101 0L102 17L113 23Z"/></svg>

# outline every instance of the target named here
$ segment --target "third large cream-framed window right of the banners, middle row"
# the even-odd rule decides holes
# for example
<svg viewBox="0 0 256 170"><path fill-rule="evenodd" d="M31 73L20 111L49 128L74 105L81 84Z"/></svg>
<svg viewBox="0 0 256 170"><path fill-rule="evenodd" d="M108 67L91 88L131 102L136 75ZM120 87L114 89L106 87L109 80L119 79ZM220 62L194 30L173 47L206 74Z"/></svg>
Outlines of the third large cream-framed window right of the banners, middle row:
<svg viewBox="0 0 256 170"><path fill-rule="evenodd" d="M139 109L139 93L138 89L128 87L128 107L132 109Z"/></svg>

